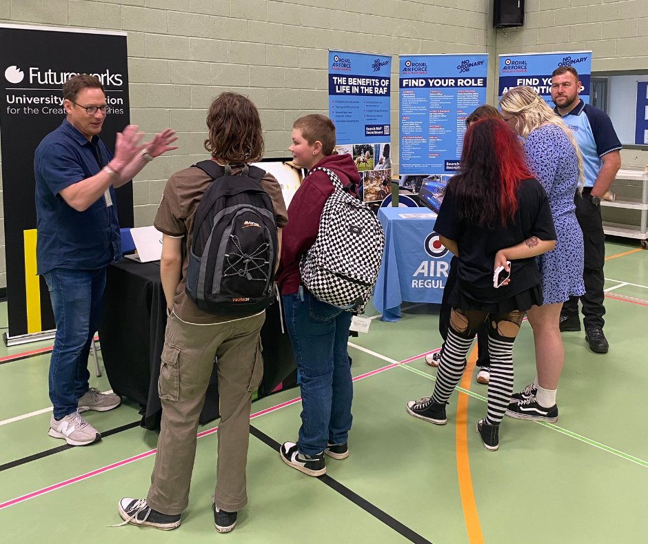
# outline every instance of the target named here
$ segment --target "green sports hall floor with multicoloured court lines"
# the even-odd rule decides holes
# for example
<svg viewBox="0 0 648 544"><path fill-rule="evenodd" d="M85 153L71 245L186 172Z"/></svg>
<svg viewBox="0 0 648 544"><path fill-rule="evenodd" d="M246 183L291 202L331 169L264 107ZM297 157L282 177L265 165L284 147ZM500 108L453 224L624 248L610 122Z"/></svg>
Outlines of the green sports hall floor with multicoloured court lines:
<svg viewBox="0 0 648 544"><path fill-rule="evenodd" d="M109 527L121 521L119 498L145 496L156 434L136 426L138 407L126 400L86 414L104 433L99 443L61 447L47 434L48 354L4 362L50 344L2 347L0 542L648 542L648 252L636 248L607 244L609 353L591 353L582 332L563 334L556 425L505 418L499 451L487 451L474 431L486 394L474 380L474 352L445 427L407 415L407 400L434 387L436 370L423 355L440 338L436 307L405 304L400 321L373 320L368 334L350 339L357 378L351 455L327 458L324 478L290 469L272 447L296 437L298 389L254 402L250 502L230 534L216 533L210 508L217 421L199 429L181 527ZM0 310L6 324L6 303ZM534 378L528 324L514 363L519 389ZM93 376L91 385L110 389L105 377Z"/></svg>

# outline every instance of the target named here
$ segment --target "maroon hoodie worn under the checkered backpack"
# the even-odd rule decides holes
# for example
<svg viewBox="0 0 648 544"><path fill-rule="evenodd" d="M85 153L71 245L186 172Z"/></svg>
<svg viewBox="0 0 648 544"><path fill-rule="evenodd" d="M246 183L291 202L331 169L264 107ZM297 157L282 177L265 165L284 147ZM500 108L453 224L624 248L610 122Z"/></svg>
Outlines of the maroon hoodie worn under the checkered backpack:
<svg viewBox="0 0 648 544"><path fill-rule="evenodd" d="M360 182L358 168L349 154L329 155L313 168L318 166L334 171L343 186ZM351 192L355 193L356 187ZM332 194L333 183L326 173L311 170L290 201L288 224L281 231L281 262L276 276L282 295L292 295L299 289L299 260L314 244L324 203Z"/></svg>

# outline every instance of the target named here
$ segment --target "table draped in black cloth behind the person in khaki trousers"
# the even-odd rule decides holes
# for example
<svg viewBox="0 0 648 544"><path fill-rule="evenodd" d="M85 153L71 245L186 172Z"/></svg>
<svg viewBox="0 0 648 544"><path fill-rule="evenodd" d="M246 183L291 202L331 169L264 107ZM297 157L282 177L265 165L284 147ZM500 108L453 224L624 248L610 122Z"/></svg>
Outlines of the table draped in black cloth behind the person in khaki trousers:
<svg viewBox="0 0 648 544"><path fill-rule="evenodd" d="M157 382L166 327L160 266L123 259L108 266L99 327L101 355L112 390L141 405L142 427L156 429L161 417ZM263 380L267 395L295 370L287 333L281 332L279 304L267 309L261 329ZM207 388L201 425L219 416L216 368Z"/></svg>

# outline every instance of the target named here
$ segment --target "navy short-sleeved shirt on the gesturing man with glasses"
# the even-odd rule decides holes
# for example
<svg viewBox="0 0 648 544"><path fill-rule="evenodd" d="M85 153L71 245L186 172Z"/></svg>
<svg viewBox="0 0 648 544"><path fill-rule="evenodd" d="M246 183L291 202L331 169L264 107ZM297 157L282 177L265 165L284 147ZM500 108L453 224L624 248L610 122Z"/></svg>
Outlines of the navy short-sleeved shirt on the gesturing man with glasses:
<svg viewBox="0 0 648 544"><path fill-rule="evenodd" d="M110 186L112 206L106 206L102 195L81 212L59 194L99 173L110 159L99 137L89 141L67 119L36 148L37 273L54 268L95 270L121 258L114 188Z"/></svg>

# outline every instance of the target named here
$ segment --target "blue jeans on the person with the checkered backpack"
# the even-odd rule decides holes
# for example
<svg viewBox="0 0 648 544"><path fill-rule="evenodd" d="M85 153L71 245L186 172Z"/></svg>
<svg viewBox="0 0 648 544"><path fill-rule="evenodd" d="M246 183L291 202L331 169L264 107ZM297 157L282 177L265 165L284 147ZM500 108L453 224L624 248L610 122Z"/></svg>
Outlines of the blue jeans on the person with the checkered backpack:
<svg viewBox="0 0 648 544"><path fill-rule="evenodd" d="M303 287L283 296L283 310L301 373L298 450L321 453L326 443L347 442L353 382L347 353L352 315L317 300Z"/></svg>

